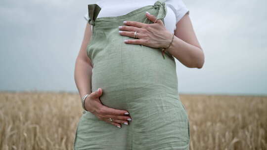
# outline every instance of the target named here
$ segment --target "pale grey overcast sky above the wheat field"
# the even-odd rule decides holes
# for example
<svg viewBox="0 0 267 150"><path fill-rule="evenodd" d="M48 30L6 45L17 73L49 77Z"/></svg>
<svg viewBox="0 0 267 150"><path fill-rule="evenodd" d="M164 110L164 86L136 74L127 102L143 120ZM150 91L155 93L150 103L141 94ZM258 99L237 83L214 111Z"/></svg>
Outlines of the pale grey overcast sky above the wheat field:
<svg viewBox="0 0 267 150"><path fill-rule="evenodd" d="M267 95L267 1L183 0L205 53L177 61L181 94ZM78 92L75 59L94 0L0 0L0 91Z"/></svg>

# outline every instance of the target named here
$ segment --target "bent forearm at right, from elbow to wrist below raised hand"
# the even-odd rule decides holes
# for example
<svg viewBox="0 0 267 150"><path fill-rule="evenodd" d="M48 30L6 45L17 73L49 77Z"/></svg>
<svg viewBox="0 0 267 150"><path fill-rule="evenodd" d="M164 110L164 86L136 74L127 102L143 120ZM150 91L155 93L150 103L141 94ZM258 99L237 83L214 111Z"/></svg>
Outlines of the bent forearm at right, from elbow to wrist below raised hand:
<svg viewBox="0 0 267 150"><path fill-rule="evenodd" d="M204 64L204 53L202 49L176 36L174 36L171 46L166 49L166 51L177 58L186 67L202 68Z"/></svg>

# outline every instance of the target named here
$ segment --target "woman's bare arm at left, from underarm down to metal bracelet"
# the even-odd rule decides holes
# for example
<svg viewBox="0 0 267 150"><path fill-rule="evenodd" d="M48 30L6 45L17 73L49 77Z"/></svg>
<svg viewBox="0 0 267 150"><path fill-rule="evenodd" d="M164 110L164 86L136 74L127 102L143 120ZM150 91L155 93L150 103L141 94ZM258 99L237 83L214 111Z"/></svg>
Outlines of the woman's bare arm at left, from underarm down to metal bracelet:
<svg viewBox="0 0 267 150"><path fill-rule="evenodd" d="M91 38L91 25L87 23L84 39L76 58L74 78L80 97L91 93L92 64L87 56L87 45Z"/></svg>

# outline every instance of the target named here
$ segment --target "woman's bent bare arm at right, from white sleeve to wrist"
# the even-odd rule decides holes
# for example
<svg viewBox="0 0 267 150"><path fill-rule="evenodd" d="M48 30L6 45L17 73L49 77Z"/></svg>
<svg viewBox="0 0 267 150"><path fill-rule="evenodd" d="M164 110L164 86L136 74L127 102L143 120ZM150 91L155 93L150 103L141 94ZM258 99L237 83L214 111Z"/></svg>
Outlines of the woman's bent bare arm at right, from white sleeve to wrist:
<svg viewBox="0 0 267 150"><path fill-rule="evenodd" d="M186 67L202 68L204 53L188 14L185 14L176 24L174 41L167 51Z"/></svg>

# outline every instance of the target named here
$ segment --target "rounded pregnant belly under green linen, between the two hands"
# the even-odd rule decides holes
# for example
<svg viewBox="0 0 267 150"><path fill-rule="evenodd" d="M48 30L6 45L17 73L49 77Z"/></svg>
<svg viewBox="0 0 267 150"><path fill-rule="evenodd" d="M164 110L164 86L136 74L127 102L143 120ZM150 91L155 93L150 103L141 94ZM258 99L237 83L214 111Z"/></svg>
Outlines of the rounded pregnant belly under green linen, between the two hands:
<svg viewBox="0 0 267 150"><path fill-rule="evenodd" d="M95 47L89 52L93 62L91 91L102 88L103 105L126 109L159 94L178 98L173 57L166 55L163 59L159 49L144 45L117 47Z"/></svg>

